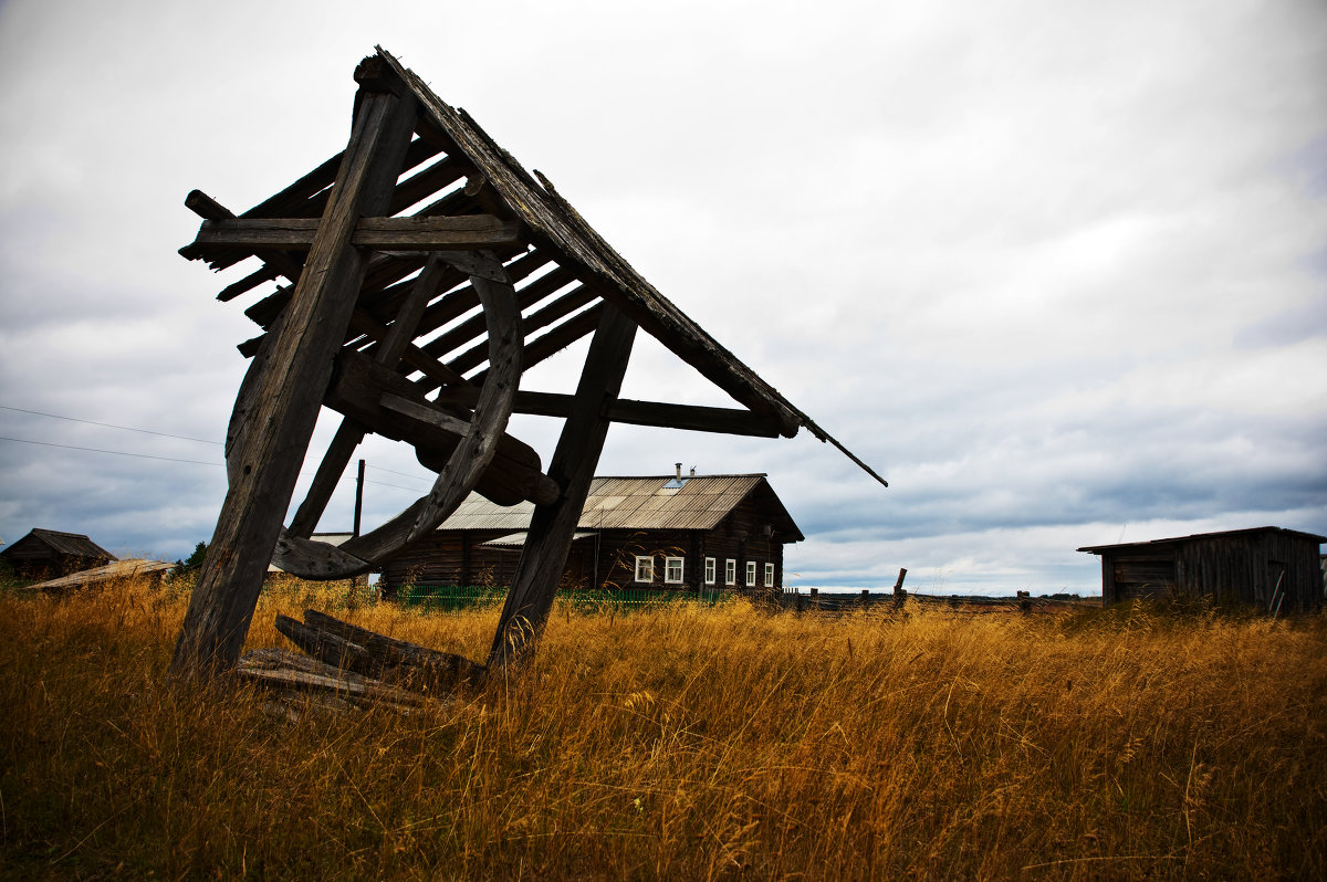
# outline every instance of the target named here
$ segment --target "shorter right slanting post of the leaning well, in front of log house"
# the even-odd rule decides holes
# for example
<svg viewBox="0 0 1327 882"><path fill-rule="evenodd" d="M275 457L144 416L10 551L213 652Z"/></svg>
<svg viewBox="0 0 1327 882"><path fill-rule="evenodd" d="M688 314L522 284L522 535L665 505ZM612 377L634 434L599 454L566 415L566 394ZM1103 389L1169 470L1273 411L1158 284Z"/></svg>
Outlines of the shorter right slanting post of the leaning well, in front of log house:
<svg viewBox="0 0 1327 882"><path fill-rule="evenodd" d="M622 389L634 341L636 322L609 305L594 330L572 412L548 464L548 476L557 481L563 493L551 505L535 507L525 548L516 564L488 653L491 668L520 662L533 651L544 630L608 435L609 420L604 416L604 406Z"/></svg>

